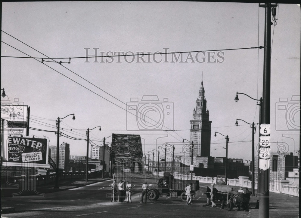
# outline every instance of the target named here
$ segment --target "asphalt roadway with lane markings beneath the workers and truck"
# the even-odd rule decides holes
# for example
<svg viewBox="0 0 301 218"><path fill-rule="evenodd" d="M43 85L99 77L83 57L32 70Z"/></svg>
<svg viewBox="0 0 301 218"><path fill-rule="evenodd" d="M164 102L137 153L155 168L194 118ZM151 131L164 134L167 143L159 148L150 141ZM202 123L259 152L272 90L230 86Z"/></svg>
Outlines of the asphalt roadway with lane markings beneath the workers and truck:
<svg viewBox="0 0 301 218"><path fill-rule="evenodd" d="M251 197L248 212L237 209L228 211L217 207L204 207L206 204L207 184L201 183L191 206L187 206L180 198L160 197L156 201L147 200L140 203L141 186L145 180L154 183L155 177L144 174L131 174L130 180L135 185L132 203L111 202L110 184L112 179L84 179L60 181L60 189L54 189L53 184L38 186L41 194L17 197L2 197L2 217L30 218L67 218L67 217L120 217L120 218L184 218L184 217L258 217L255 209L256 197ZM234 187L235 189L235 187ZM12 189L13 190L13 189ZM10 190L11 191L11 190ZM6 190L7 194L8 190ZM11 191L16 193L16 189ZM33 193L31 193L33 194ZM2 195L3 196L3 195ZM14 211L13 211L14 210ZM270 192L270 217L299 217L299 197Z"/></svg>

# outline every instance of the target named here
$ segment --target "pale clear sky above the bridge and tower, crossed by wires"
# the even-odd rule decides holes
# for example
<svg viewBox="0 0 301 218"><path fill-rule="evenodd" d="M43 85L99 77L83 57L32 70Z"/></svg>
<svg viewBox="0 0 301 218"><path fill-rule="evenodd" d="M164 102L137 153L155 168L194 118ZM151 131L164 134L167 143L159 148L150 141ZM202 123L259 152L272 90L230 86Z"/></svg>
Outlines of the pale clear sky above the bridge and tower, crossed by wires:
<svg viewBox="0 0 301 218"><path fill-rule="evenodd" d="M1 89L7 95L2 101L30 106L32 128L56 131L56 119L74 113L76 120L69 116L60 124L69 136L86 139L88 128L101 126L100 132L90 132L97 145L112 133L138 134L144 153L156 149L161 156L159 146L168 143L181 156L203 80L212 121L211 156L225 156L225 137L214 137L219 132L229 136L228 158L251 159L252 128L235 122L258 123L259 102L242 94L238 102L234 98L236 92L262 96L264 50L225 49L263 46L264 14L253 3L2 2ZM271 151L296 152L300 6L279 4L276 19L271 26ZM182 61L179 54L152 55L187 51L206 52L183 53ZM151 55L95 59L95 52ZM72 59L70 64L42 62L46 56ZM73 59L86 56L90 58ZM164 121L155 131L128 110L128 105L139 108L150 98L158 100L157 109L145 107L152 109L146 120ZM256 130L258 142L258 125ZM54 132L30 130L29 137L33 135L57 143ZM85 156L86 141L60 137L62 142L70 144L70 155Z"/></svg>

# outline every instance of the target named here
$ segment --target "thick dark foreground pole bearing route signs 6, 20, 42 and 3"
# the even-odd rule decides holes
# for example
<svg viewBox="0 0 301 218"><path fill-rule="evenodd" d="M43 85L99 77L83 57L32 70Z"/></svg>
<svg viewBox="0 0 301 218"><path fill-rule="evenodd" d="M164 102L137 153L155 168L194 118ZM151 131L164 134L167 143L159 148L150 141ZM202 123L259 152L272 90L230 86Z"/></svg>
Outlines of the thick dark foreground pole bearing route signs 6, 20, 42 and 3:
<svg viewBox="0 0 301 218"><path fill-rule="evenodd" d="M271 9L276 14L274 7L277 4L265 3L259 5L265 8L265 35L264 35L264 62L263 62L263 86L262 86L262 115L259 133L260 140L260 159L259 159L259 218L269 217L269 175L270 175L270 157L266 157L265 153L269 153L270 146L267 141L270 141L270 95L271 95ZM263 126L262 124L265 124ZM263 156L262 156L263 155Z"/></svg>

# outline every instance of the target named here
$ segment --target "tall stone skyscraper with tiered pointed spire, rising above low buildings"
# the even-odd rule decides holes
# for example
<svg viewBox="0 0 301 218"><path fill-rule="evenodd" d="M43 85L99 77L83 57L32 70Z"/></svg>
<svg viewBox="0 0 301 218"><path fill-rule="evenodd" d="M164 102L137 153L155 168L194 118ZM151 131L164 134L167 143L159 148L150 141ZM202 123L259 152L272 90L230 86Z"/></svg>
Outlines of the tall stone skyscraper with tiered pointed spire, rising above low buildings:
<svg viewBox="0 0 301 218"><path fill-rule="evenodd" d="M194 156L210 156L211 122L209 110L206 109L205 91L203 80L197 97L197 106L193 110L190 120L190 141L194 143Z"/></svg>

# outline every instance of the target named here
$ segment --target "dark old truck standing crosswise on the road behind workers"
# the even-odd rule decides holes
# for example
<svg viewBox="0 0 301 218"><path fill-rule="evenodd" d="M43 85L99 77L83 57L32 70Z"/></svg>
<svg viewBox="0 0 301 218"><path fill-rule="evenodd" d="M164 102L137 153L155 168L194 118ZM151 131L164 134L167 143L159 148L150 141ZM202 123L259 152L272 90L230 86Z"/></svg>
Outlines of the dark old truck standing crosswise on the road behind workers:
<svg viewBox="0 0 301 218"><path fill-rule="evenodd" d="M157 200L160 196L180 197L182 201L186 201L185 187L192 183L191 191L193 197L195 192L199 190L199 180L179 180L174 179L169 172L165 172L155 184L148 184L148 198Z"/></svg>

